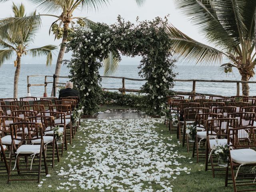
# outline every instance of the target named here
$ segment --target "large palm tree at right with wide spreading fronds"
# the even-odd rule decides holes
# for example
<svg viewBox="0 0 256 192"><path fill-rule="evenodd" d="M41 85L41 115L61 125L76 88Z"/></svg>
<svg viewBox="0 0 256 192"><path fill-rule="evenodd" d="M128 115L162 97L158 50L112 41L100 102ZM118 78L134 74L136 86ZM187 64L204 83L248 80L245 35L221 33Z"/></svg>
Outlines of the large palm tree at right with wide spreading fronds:
<svg viewBox="0 0 256 192"><path fill-rule="evenodd" d="M174 0L200 32L214 46L200 43L171 24L167 28L172 49L178 58L188 62L222 64L225 72L237 68L243 81L254 76L255 0ZM249 95L248 83L242 83L243 95Z"/></svg>

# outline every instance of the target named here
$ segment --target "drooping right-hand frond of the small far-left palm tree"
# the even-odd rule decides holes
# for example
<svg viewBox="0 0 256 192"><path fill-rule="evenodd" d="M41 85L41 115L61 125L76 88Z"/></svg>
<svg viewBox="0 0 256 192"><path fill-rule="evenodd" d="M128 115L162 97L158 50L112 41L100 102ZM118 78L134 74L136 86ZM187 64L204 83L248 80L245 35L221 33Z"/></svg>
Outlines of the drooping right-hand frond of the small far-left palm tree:
<svg viewBox="0 0 256 192"><path fill-rule="evenodd" d="M52 51L58 49L56 45L46 45L40 48L34 48L28 50L28 53L32 57L46 56L46 66L52 64Z"/></svg>

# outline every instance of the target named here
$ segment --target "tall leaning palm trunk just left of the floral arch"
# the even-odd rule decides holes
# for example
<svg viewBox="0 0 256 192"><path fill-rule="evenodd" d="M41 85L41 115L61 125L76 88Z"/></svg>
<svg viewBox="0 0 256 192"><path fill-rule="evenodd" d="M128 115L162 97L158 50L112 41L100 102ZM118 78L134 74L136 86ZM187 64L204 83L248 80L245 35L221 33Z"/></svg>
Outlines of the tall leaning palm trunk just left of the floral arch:
<svg viewBox="0 0 256 192"><path fill-rule="evenodd" d="M63 60L63 56L64 56L64 53L66 51L65 43L68 40L68 25L69 25L69 22L64 22L64 33L63 33L62 43L60 45L60 52L58 54L58 59L57 59L56 68L55 68L55 75L56 76L60 75L61 62ZM59 82L58 78L56 78L55 82ZM56 88L55 88L55 92L57 92ZM53 86L52 86L51 96L53 96Z"/></svg>

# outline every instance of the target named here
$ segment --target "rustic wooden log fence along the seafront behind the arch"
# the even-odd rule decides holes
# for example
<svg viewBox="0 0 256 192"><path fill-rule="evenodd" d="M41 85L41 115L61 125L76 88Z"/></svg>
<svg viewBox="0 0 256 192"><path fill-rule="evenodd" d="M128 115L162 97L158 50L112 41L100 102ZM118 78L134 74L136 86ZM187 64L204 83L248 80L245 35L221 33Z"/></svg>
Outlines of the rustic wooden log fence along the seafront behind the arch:
<svg viewBox="0 0 256 192"><path fill-rule="evenodd" d="M30 84L29 80L30 77L44 77L44 84ZM42 75L30 75L27 76L27 83L28 83L28 94L30 94L30 87L32 86L44 86L44 96L47 96L47 85L48 84L53 84L54 87L54 96L56 96L55 88L57 87L62 87L65 82L56 82L56 78L65 78L68 79L68 76L42 76ZM118 90L119 92L122 92L123 94L125 92L140 92L138 89L126 89L125 88L125 82L126 80L131 80L131 81L145 81L145 79L135 79L135 78L128 78L128 77L116 77L116 76L101 76L102 78L116 78L116 79L122 79L122 88L102 88L102 90ZM48 78L53 78L52 81L48 82ZM255 84L256 81L236 81L236 80L202 80L202 79L176 79L176 82L192 82L192 91L191 92L180 92L176 91L176 94L178 95L195 95L195 94L200 94L200 95L206 95L206 96L214 96L215 94L206 94L206 93L198 93L196 92L196 82L217 82L217 83L236 83L236 95L240 95L240 83L250 83L250 84Z"/></svg>

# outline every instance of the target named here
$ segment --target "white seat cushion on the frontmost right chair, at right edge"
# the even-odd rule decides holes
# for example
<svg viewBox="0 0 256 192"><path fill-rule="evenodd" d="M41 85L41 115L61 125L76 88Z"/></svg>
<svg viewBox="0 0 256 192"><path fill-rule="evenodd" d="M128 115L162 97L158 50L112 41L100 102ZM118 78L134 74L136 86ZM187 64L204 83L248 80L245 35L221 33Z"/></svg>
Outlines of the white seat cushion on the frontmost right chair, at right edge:
<svg viewBox="0 0 256 192"><path fill-rule="evenodd" d="M230 155L233 162L239 164L256 163L256 151L253 149L234 149L230 150Z"/></svg>

